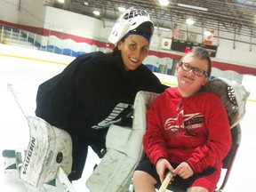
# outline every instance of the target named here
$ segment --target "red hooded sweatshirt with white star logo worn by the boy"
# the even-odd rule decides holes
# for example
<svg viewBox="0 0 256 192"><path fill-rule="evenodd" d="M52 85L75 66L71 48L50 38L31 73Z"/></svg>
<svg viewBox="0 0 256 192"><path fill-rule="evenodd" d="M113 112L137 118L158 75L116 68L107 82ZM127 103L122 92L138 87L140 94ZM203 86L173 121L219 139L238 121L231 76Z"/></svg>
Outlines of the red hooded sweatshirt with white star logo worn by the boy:
<svg viewBox="0 0 256 192"><path fill-rule="evenodd" d="M177 88L168 88L148 110L143 145L153 164L164 157L171 164L185 161L194 172L220 170L231 144L228 116L215 93L184 99Z"/></svg>

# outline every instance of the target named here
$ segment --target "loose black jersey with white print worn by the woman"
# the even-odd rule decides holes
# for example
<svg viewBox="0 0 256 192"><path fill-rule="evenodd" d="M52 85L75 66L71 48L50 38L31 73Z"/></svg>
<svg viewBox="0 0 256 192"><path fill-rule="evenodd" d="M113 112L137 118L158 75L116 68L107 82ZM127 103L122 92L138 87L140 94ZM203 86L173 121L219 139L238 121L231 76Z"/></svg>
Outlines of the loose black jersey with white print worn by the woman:
<svg viewBox="0 0 256 192"><path fill-rule="evenodd" d="M72 140L98 142L110 124L131 123L137 92L160 93L165 88L143 64L125 71L120 52L87 53L39 85L36 116L66 130Z"/></svg>

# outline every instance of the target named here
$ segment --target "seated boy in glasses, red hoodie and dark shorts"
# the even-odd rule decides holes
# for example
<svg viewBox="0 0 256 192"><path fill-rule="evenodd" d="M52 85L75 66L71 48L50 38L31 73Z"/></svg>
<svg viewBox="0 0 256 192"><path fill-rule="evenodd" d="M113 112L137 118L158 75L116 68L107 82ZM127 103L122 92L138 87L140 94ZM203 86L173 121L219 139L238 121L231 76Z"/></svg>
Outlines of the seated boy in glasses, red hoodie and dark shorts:
<svg viewBox="0 0 256 192"><path fill-rule="evenodd" d="M133 174L136 192L155 191L166 170L175 175L173 188L188 192L216 188L221 161L232 141L220 98L202 91L211 68L204 48L188 52L177 66L178 87L160 94L148 110L143 138L147 158Z"/></svg>

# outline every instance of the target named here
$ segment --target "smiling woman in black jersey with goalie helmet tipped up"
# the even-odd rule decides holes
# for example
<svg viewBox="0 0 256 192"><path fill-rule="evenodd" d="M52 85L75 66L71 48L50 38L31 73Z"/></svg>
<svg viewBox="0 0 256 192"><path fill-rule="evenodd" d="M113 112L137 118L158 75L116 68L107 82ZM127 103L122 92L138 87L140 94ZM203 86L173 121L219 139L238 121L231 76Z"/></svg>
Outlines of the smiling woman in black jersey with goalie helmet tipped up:
<svg viewBox="0 0 256 192"><path fill-rule="evenodd" d="M137 92L164 92L165 86L142 64L153 29L147 12L128 10L109 36L116 44L114 52L81 55L62 73L40 84L36 116L66 130L73 141L69 180L81 177L89 146L103 156L110 124L132 124Z"/></svg>

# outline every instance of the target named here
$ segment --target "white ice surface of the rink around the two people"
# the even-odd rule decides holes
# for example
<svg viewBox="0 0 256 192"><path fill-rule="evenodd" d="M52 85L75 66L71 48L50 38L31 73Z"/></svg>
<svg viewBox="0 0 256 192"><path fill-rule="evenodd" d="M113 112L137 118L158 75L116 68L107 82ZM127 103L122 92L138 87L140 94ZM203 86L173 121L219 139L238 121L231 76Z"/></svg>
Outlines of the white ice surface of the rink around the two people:
<svg viewBox="0 0 256 192"><path fill-rule="evenodd" d="M20 111L19 106L13 99L12 93L7 89L7 84L12 84L20 105L29 115L34 116L36 108L36 92L39 84L50 77L60 73L65 68L60 65L42 60L28 60L26 58L15 58L0 55L0 113L1 113L1 134L0 151L3 149L27 148L29 139L28 123ZM241 122L242 140L236 156L236 161L230 174L225 192L253 192L254 173L256 172L256 102L248 100L246 115ZM254 111L254 112L253 112ZM89 152L83 178L74 182L77 192L89 191L85 187L85 180L92 173L94 164L100 160ZM4 180L4 162L0 157L0 186L3 192L26 191L22 184L14 184ZM111 192L111 191L109 191Z"/></svg>

